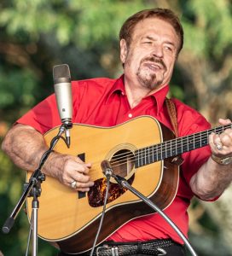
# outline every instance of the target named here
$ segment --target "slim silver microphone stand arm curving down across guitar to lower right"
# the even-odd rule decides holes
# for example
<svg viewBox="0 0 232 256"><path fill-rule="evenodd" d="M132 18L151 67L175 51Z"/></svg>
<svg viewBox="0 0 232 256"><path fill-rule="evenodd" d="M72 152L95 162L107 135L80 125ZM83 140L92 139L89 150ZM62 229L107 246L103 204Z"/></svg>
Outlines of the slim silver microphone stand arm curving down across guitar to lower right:
<svg viewBox="0 0 232 256"><path fill-rule="evenodd" d="M107 172L109 172L109 166L107 166ZM169 218L165 212L163 212L161 209L159 209L159 207L157 207L153 201L150 201L146 196L142 195L138 190L136 190L135 188L133 188L131 186L130 183L127 182L127 180L124 177L120 177L119 175L114 175L113 174L113 170L110 171L111 172L111 176L116 180L117 183L119 183L120 186L124 187L125 189L130 190L133 194L135 194L137 197L139 197L142 201L144 201L149 207L152 207L156 212L159 213L159 215L161 215L161 217L165 218L166 222L168 224L171 225L171 227L173 228L173 230L175 230L177 232L177 234L182 238L182 240L184 241L184 243L186 244L186 246L188 247L189 252L194 255L197 256L197 254L194 252L194 248L191 246L191 244L189 243L188 239L186 238L186 236L183 235L182 231L179 230L179 228L177 227L176 224L174 224L171 221L171 218Z"/></svg>

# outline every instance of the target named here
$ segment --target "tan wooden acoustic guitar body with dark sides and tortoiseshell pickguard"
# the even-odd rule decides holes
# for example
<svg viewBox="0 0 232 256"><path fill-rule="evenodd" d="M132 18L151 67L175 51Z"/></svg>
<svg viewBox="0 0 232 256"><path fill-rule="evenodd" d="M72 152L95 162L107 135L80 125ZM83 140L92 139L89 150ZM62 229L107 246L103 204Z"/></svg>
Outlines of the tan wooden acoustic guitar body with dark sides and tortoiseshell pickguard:
<svg viewBox="0 0 232 256"><path fill-rule="evenodd" d="M58 131L59 127L44 135L48 145ZM170 158L139 168L135 168L135 163L131 161L136 149L174 138L173 133L156 119L143 116L107 128L74 124L70 132L70 148L60 140L55 151L76 155L85 162L92 163L90 177L95 181L95 186L88 193L78 193L55 178L46 176L42 183L42 194L38 198L39 237L66 253L90 250L102 216L106 189L102 160L109 160L113 173L125 177L158 207L164 209L171 204L177 193L178 166ZM125 154L125 163L121 165L120 157ZM31 175L32 172L27 172L27 180ZM136 195L121 189L113 180L109 193L106 215L97 243L104 241L131 219L154 213ZM31 218L32 198L27 199L27 212Z"/></svg>

